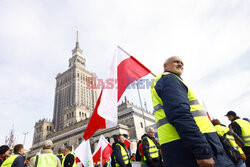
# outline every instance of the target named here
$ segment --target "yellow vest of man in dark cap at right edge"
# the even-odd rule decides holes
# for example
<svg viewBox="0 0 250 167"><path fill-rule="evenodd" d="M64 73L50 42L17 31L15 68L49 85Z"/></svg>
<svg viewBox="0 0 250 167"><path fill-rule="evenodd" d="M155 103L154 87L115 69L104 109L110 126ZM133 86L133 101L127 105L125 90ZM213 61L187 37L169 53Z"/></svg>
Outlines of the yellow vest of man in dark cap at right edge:
<svg viewBox="0 0 250 167"><path fill-rule="evenodd" d="M244 140L244 146L250 146L250 123L243 119L236 119L233 122L237 122L241 128L241 136Z"/></svg>

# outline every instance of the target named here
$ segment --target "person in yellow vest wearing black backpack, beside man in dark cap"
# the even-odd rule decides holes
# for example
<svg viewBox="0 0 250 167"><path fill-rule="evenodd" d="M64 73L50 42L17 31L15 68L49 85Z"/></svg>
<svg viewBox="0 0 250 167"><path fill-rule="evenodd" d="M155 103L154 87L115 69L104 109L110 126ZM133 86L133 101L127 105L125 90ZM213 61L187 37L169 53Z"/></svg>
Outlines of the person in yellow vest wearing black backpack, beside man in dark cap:
<svg viewBox="0 0 250 167"><path fill-rule="evenodd" d="M237 155L239 155L239 157L235 155L237 156L236 157L237 162L234 163L235 167L246 167L246 164L243 161L243 160L246 160L246 156L244 152L242 151L242 149L240 148L240 146L236 143L235 138L234 138L234 136L236 136L237 134L235 134L232 130L230 130L226 126L222 125L218 119L213 119L212 123L216 129L217 134L221 138L225 136L226 139L228 139L229 143L231 144L232 148L238 151ZM240 158L240 156L242 158Z"/></svg>

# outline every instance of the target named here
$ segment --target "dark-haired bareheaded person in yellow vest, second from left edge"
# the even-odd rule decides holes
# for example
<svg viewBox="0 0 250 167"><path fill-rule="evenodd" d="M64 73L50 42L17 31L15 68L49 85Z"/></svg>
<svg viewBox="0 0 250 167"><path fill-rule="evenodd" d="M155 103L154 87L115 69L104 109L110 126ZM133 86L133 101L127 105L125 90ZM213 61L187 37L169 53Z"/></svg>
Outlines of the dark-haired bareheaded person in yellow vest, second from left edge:
<svg viewBox="0 0 250 167"><path fill-rule="evenodd" d="M24 148L22 144L14 146L14 154L7 158L1 167L25 167Z"/></svg>

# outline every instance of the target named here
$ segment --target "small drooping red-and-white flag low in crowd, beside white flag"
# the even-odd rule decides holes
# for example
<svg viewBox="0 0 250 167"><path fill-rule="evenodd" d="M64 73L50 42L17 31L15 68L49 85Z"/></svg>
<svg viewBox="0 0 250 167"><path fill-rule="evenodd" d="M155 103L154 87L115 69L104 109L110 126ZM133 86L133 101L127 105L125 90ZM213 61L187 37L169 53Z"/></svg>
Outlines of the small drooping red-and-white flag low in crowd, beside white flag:
<svg viewBox="0 0 250 167"><path fill-rule="evenodd" d="M106 161L110 160L110 156L113 152L111 144L105 139L103 135L100 136L99 142L95 148L93 153L93 162L103 162L105 164ZM100 163L101 164L101 163ZM102 165L104 165L102 164Z"/></svg>

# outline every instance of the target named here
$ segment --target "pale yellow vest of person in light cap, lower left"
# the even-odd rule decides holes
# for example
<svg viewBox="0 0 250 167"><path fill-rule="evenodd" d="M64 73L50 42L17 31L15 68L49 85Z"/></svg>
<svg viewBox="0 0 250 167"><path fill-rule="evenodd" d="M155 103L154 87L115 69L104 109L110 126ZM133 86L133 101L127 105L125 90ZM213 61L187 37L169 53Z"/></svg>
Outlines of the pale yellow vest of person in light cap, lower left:
<svg viewBox="0 0 250 167"><path fill-rule="evenodd" d="M57 157L53 153L38 155L37 167L44 167L44 166L57 167Z"/></svg>

